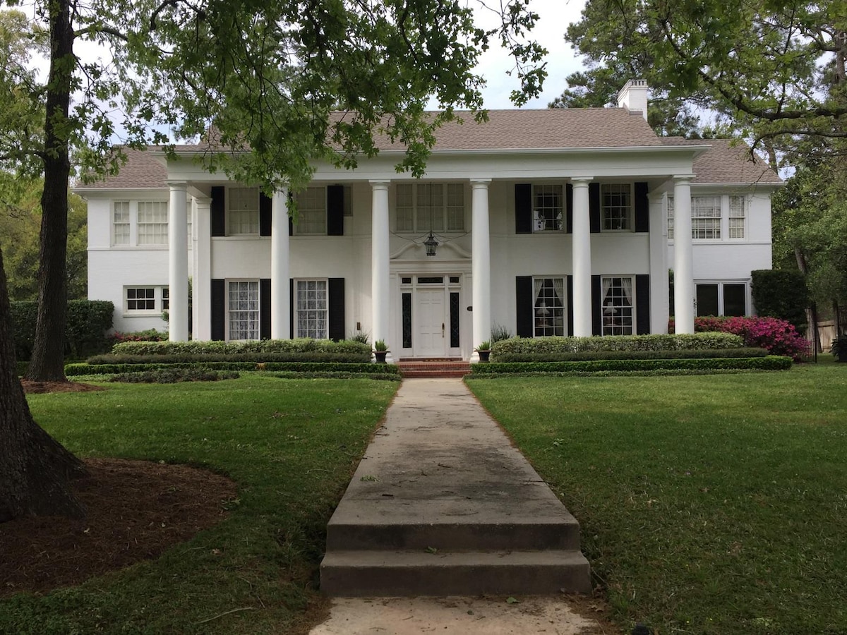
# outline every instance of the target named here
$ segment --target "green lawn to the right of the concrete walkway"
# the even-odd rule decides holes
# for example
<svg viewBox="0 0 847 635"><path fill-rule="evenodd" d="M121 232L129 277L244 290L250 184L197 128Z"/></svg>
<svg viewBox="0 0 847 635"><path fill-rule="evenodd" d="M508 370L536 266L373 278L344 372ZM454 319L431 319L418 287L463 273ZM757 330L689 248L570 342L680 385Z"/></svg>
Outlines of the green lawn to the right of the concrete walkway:
<svg viewBox="0 0 847 635"><path fill-rule="evenodd" d="M578 518L627 632L847 632L847 364L468 384Z"/></svg>

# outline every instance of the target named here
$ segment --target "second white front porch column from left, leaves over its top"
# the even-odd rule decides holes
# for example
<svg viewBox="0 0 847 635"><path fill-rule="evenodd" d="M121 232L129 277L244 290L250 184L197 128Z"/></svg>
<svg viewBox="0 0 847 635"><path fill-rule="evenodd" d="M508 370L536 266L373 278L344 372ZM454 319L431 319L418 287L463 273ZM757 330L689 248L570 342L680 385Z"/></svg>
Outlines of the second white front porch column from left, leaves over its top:
<svg viewBox="0 0 847 635"><path fill-rule="evenodd" d="M270 220L270 336L291 338L291 297L289 294L288 188L274 192Z"/></svg>

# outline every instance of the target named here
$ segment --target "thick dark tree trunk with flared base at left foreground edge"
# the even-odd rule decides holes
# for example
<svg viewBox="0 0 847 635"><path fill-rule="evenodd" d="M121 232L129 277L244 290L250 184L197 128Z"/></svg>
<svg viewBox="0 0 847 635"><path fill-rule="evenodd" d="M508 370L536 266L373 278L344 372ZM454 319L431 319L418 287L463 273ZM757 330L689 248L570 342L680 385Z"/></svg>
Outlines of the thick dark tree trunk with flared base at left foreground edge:
<svg viewBox="0 0 847 635"><path fill-rule="evenodd" d="M0 522L19 516L80 517L71 478L85 466L32 420L15 373L12 314L0 251Z"/></svg>

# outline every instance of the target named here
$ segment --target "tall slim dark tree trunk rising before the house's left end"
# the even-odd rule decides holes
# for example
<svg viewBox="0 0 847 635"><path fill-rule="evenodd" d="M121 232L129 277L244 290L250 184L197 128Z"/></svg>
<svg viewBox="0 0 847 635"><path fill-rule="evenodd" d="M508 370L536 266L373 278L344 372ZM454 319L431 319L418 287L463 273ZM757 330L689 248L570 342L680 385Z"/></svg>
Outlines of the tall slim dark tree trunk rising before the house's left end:
<svg viewBox="0 0 847 635"><path fill-rule="evenodd" d="M68 184L70 177L68 112L75 63L74 29L68 0L49 0L50 75L44 124L44 191L38 266L38 319L26 378L66 381L64 327L68 280Z"/></svg>

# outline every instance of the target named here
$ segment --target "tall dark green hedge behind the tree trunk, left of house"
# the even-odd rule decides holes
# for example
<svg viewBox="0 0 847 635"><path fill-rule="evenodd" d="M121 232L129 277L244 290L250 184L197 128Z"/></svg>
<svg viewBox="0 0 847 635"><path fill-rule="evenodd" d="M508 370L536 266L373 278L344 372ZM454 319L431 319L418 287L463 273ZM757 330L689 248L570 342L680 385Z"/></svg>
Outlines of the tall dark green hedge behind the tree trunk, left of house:
<svg viewBox="0 0 847 635"><path fill-rule="evenodd" d="M19 361L32 356L36 341L38 302L10 302L14 353ZM80 358L107 350L106 331L112 328L114 305L102 300L70 300L64 329L65 354Z"/></svg>

